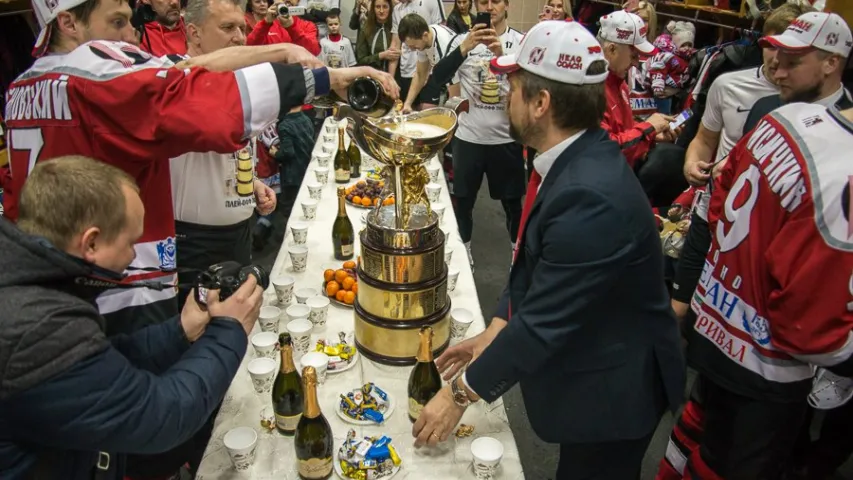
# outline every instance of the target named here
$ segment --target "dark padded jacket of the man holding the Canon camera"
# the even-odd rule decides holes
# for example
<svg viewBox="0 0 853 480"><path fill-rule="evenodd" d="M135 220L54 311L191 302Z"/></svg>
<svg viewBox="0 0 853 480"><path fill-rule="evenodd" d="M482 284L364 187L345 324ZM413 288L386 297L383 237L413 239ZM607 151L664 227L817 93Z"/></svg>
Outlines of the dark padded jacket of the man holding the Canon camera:
<svg viewBox="0 0 853 480"><path fill-rule="evenodd" d="M123 454L169 450L204 424L246 352L228 318L192 346L178 318L106 338L102 290L80 283L93 274L108 275L0 219L4 480L92 479L99 458L97 478L121 479Z"/></svg>

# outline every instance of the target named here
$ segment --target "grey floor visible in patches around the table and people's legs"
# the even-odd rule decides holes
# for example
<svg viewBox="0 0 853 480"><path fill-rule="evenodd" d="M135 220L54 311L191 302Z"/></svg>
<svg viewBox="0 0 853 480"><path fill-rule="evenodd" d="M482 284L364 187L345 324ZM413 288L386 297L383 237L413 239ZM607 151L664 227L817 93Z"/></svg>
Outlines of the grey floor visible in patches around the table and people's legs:
<svg viewBox="0 0 853 480"><path fill-rule="evenodd" d="M263 251L255 255L256 263L271 267L278 253L282 236L281 220L277 221L277 241L273 241ZM500 203L488 196L488 187L483 184L474 210L474 237L472 239L476 270L474 279L480 306L485 318L491 318L498 296L503 291L504 282L509 273L510 241L504 228L504 214ZM495 241L503 239L505 241ZM527 421L527 412L518 387L504 396L504 405L515 434L519 455L524 466L525 476L529 480L550 480L554 478L557 466L558 448L539 440ZM667 438L672 428L673 418L666 415L658 426L652 439L646 458L643 461L641 480L654 479L657 465L666 449ZM853 462L848 461L834 480L853 479Z"/></svg>

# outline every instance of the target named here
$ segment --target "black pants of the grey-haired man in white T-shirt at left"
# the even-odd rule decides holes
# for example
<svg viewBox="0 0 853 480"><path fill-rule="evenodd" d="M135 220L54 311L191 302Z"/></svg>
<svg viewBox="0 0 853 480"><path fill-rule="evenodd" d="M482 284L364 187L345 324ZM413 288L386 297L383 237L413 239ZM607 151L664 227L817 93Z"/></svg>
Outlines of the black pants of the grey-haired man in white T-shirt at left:
<svg viewBox="0 0 853 480"><path fill-rule="evenodd" d="M224 227L175 222L178 268L206 270L207 267L225 261L241 265L252 262L251 219ZM181 309L198 278L198 272L178 274L178 302Z"/></svg>

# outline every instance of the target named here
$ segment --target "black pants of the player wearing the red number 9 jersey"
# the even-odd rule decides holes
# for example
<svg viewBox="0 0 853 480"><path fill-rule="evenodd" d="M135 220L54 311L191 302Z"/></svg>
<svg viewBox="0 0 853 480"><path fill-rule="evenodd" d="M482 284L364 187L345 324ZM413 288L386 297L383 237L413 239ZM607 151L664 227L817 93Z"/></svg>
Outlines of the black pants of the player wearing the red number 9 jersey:
<svg viewBox="0 0 853 480"><path fill-rule="evenodd" d="M806 414L806 402L758 400L729 391L700 375L704 432L701 462L687 464L693 478L712 470L726 480L781 478Z"/></svg>

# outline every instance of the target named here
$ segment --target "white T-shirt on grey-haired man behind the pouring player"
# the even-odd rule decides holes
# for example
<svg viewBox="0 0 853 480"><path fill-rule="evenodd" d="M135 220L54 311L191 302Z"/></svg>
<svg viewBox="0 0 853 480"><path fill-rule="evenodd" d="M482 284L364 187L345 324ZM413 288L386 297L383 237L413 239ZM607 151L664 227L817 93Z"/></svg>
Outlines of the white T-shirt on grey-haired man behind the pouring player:
<svg viewBox="0 0 853 480"><path fill-rule="evenodd" d="M255 180L256 148L253 138L246 145L251 154L248 162L241 162L237 153L216 152L191 152L171 159L175 220L227 226L251 217L255 194L249 185Z"/></svg>

